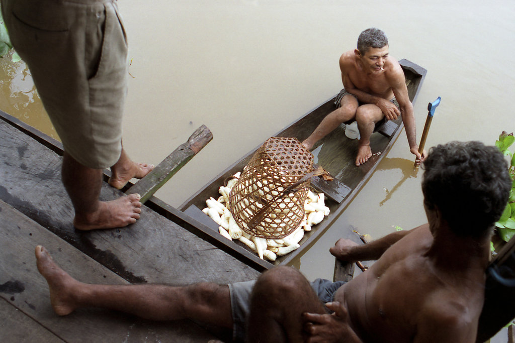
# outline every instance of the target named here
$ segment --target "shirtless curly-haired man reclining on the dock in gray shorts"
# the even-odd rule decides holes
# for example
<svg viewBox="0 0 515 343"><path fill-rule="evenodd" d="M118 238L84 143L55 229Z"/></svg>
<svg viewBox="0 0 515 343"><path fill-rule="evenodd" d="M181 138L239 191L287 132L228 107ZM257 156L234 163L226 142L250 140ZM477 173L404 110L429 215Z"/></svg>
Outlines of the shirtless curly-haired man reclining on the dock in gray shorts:
<svg viewBox="0 0 515 343"><path fill-rule="evenodd" d="M353 280L310 283L276 267L256 281L188 286L93 285L36 247L55 312L95 306L154 320L191 318L250 342L475 342L493 224L508 200L504 156L480 142L432 148L422 179L428 224L331 254L377 261Z"/></svg>

